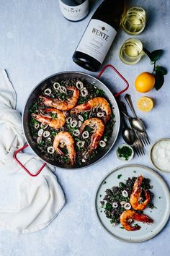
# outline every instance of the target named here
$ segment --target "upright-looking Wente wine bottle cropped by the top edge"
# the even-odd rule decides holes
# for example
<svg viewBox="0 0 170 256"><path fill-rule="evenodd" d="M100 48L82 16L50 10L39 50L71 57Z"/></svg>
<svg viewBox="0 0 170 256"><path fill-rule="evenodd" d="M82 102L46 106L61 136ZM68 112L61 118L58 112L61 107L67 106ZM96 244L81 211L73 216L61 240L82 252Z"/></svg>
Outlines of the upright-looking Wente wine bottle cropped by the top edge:
<svg viewBox="0 0 170 256"><path fill-rule="evenodd" d="M89 0L58 0L61 13L67 20L78 21L89 13Z"/></svg>

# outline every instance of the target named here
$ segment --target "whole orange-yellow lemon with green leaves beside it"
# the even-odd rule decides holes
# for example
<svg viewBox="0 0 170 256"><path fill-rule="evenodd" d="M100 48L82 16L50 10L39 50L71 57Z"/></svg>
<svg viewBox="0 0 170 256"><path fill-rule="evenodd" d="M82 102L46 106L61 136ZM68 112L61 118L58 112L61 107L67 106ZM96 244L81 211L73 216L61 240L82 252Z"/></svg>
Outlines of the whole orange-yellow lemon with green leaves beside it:
<svg viewBox="0 0 170 256"><path fill-rule="evenodd" d="M148 93L149 90L152 90L156 82L153 74L149 72L143 72L136 77L135 80L135 89L139 93Z"/></svg>

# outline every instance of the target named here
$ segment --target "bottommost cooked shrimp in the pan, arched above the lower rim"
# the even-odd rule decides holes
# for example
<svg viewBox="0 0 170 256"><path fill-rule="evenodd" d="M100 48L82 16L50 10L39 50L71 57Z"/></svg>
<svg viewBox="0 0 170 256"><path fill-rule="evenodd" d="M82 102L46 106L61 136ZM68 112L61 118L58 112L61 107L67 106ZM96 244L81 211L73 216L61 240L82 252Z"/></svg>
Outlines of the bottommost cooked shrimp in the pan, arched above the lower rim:
<svg viewBox="0 0 170 256"><path fill-rule="evenodd" d="M64 155L61 151L59 145L66 146L68 150L68 158L70 160L71 166L76 162L76 151L74 148L74 140L69 132L59 132L58 135L55 136L53 147L57 151L59 155Z"/></svg>

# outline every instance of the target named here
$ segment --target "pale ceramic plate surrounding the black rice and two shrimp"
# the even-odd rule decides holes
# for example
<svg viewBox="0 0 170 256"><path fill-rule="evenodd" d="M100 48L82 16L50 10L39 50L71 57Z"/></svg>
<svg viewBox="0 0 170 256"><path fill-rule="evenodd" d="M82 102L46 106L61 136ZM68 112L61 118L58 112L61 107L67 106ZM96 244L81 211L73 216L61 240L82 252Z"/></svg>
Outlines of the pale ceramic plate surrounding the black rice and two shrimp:
<svg viewBox="0 0 170 256"><path fill-rule="evenodd" d="M122 174L120 177L119 175ZM147 223L139 222L141 229L138 231L126 231L121 229L121 224L112 226L104 214L104 208L101 208L100 201L104 198L105 190L111 189L113 186L117 186L119 182L125 182L128 177L140 176L151 180L153 189L151 191L154 194L153 203L156 208L146 208L143 213L150 216L153 219L153 223L148 225ZM118 179L117 176L120 178ZM125 165L115 168L110 174L108 174L97 189L97 195L95 199L97 217L104 229L109 232L115 238L122 240L123 242L143 242L156 236L166 225L170 215L170 194L164 180L151 168L139 165Z"/></svg>

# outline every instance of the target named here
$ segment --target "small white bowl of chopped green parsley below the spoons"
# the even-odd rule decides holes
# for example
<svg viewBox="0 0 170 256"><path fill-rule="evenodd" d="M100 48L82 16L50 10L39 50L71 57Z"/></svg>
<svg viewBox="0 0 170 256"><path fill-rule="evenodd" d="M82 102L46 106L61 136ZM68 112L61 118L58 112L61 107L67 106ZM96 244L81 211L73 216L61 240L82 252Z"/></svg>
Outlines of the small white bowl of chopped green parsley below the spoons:
<svg viewBox="0 0 170 256"><path fill-rule="evenodd" d="M134 150L130 145L122 144L117 148L116 155L121 161L130 161L133 159Z"/></svg>

